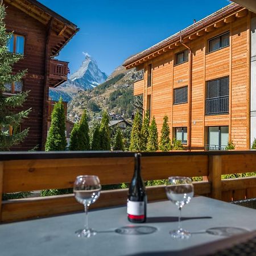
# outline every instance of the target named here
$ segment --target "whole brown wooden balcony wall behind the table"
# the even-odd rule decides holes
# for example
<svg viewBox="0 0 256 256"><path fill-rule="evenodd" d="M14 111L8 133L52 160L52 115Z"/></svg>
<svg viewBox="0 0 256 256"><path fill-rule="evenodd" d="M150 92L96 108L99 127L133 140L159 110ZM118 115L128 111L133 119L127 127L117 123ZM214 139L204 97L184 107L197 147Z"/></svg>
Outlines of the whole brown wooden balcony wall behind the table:
<svg viewBox="0 0 256 256"><path fill-rule="evenodd" d="M256 177L221 180L221 174L253 172L256 151L158 152L142 154L144 180L168 176L207 176L195 182L195 194L225 201L256 197ZM2 193L71 188L78 175L98 175L101 184L127 183L134 170L130 152L26 152L0 154ZM149 201L167 199L164 186L147 187ZM127 189L102 191L90 208L125 205ZM73 195L0 202L0 221L10 222L82 210Z"/></svg>

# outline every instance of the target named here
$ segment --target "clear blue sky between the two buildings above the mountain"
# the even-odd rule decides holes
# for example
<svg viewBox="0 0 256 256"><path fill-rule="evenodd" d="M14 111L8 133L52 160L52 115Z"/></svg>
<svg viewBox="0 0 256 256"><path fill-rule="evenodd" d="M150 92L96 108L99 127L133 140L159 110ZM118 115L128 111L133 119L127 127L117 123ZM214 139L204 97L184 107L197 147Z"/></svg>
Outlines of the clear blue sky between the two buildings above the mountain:
<svg viewBox="0 0 256 256"><path fill-rule="evenodd" d="M88 52L108 75L130 55L229 4L228 0L39 0L80 31L61 51L71 73Z"/></svg>

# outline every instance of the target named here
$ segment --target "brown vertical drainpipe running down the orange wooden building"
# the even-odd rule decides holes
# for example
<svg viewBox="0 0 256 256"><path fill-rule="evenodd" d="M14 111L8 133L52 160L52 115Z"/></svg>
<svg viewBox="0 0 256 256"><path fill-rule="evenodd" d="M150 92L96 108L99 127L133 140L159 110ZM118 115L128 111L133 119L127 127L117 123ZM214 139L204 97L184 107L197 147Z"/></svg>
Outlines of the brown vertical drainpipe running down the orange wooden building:
<svg viewBox="0 0 256 256"><path fill-rule="evenodd" d="M180 43L189 51L188 67L188 150L191 150L191 126L192 126L192 49L183 43L180 36Z"/></svg>

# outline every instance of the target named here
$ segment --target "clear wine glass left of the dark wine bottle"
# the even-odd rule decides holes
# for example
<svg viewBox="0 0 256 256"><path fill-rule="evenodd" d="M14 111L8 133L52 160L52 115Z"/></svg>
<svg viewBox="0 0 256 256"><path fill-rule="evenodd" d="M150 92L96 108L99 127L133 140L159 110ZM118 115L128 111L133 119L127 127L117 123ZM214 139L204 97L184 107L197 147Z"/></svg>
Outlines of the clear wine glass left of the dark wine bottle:
<svg viewBox="0 0 256 256"><path fill-rule="evenodd" d="M76 177L73 192L76 200L84 205L85 225L83 229L77 230L78 237L91 237L96 235L96 231L88 227L88 207L96 202L100 197L101 184L98 176L81 175Z"/></svg>

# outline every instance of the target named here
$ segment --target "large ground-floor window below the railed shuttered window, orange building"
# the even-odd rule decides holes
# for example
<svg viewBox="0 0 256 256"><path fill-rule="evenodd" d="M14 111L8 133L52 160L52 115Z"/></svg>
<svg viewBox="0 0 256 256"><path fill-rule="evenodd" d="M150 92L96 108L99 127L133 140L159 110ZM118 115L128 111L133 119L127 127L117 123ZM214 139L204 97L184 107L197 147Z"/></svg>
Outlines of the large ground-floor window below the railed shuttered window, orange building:
<svg viewBox="0 0 256 256"><path fill-rule="evenodd" d="M225 150L229 141L228 126L208 127L208 144L206 150Z"/></svg>

